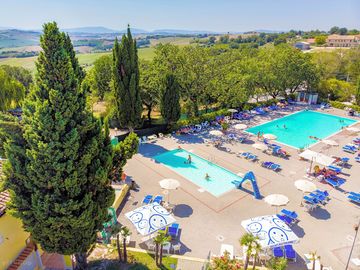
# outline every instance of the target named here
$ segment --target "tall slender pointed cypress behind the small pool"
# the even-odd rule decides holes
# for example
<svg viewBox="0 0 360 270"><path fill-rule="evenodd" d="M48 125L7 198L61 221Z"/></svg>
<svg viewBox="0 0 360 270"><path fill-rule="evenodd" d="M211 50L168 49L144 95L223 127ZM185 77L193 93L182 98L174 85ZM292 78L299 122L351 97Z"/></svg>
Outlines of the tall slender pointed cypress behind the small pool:
<svg viewBox="0 0 360 270"><path fill-rule="evenodd" d="M132 131L141 125L142 103L136 41L131 36L129 26L127 35L123 35L120 44L115 39L113 82L119 123Z"/></svg>

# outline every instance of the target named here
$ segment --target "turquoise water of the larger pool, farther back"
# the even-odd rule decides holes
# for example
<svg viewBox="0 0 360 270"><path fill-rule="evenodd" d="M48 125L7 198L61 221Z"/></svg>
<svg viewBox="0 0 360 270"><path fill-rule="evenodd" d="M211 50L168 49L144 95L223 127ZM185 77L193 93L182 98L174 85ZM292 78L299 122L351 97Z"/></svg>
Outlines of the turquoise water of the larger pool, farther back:
<svg viewBox="0 0 360 270"><path fill-rule="evenodd" d="M355 120L335 115L315 112L301 111L274 121L247 129L252 134L270 133L277 136L280 143L295 148L307 148L316 143L309 136L324 139L341 130L342 127L355 123ZM286 128L284 128L284 125Z"/></svg>

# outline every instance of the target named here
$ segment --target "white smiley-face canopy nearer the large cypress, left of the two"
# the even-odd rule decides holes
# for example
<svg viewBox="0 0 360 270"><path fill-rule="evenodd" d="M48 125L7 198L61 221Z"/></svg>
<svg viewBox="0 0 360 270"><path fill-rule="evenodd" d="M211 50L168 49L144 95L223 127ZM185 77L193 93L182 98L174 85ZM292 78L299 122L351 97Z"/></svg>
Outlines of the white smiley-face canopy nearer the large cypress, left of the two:
<svg viewBox="0 0 360 270"><path fill-rule="evenodd" d="M175 218L158 203L144 205L125 216L141 235L152 234L175 222Z"/></svg>

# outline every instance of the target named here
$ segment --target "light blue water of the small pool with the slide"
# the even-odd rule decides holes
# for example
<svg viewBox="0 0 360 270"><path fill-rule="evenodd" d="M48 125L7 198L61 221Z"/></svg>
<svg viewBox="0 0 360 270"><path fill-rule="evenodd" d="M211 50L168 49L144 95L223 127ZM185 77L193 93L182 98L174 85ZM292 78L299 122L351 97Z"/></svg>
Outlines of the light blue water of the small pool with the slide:
<svg viewBox="0 0 360 270"><path fill-rule="evenodd" d="M188 155L191 156L191 164L185 163ZM176 149L159 154L155 156L154 159L214 196L220 196L235 188L232 182L237 182L242 179L240 176L223 167L183 149ZM210 176L209 180L205 179L206 173Z"/></svg>

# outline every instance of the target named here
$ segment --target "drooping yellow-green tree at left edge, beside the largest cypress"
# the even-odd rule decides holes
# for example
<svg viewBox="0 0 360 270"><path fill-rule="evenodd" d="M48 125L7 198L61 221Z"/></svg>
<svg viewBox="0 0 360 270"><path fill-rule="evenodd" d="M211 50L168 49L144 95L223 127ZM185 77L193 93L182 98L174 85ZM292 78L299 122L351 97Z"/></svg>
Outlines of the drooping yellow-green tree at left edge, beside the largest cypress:
<svg viewBox="0 0 360 270"><path fill-rule="evenodd" d="M0 69L0 111L16 108L25 97L25 87Z"/></svg>

